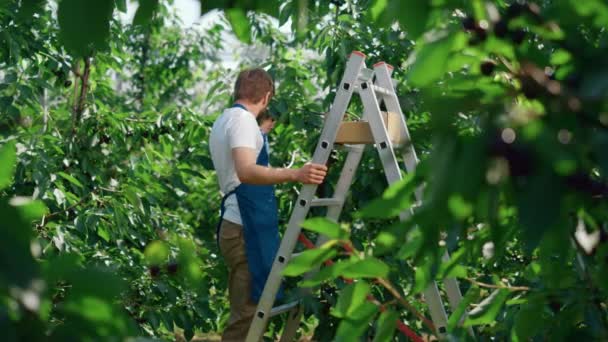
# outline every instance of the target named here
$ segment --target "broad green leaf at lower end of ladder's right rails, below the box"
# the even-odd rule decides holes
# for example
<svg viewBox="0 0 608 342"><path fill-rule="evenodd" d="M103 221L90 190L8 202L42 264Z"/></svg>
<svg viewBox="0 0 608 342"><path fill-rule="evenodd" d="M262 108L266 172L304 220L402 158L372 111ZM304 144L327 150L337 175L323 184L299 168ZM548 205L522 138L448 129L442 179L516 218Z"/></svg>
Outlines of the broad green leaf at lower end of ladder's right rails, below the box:
<svg viewBox="0 0 608 342"><path fill-rule="evenodd" d="M391 185L381 198L373 200L359 212L359 217L391 218L412 205L412 196L416 190L414 173L407 174L402 180Z"/></svg>

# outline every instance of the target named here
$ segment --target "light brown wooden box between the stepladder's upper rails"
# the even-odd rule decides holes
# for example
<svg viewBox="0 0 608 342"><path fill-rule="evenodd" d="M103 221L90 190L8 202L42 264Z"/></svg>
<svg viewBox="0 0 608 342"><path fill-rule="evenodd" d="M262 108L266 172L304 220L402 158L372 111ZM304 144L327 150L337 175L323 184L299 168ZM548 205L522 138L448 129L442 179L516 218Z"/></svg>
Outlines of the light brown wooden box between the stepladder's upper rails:
<svg viewBox="0 0 608 342"><path fill-rule="evenodd" d="M382 112L382 120L393 145L405 142L405 132L401 131L399 114ZM373 144L374 137L367 121L343 121L338 128L336 144Z"/></svg>

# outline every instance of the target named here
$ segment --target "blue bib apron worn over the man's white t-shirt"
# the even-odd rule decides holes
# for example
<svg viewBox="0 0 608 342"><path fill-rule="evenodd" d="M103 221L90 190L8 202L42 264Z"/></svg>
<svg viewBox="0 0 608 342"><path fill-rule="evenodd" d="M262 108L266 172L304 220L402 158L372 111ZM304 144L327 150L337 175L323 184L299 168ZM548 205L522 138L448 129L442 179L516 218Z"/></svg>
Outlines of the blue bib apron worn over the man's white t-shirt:
<svg viewBox="0 0 608 342"><path fill-rule="evenodd" d="M240 104L236 104L234 107L247 110ZM266 148L266 136L262 136L264 146L258 155L256 164L268 166L269 155ZM274 186L241 183L234 190L224 195L221 204L220 222L217 226L218 245L220 225L225 212L224 204L226 199L233 194L236 195L243 223L245 253L251 275L251 299L257 303L264 290L268 274L270 274L272 262L279 250L279 219ZM281 297L282 293L279 291L277 299Z"/></svg>

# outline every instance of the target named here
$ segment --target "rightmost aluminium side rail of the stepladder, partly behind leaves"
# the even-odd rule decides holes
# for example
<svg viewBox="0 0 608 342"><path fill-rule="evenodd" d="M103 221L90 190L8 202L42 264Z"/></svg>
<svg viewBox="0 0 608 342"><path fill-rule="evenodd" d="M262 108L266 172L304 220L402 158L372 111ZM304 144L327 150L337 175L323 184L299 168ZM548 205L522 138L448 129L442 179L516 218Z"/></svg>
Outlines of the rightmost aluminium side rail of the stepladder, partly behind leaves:
<svg viewBox="0 0 608 342"><path fill-rule="evenodd" d="M399 118L401 120L401 130L405 133L406 137L406 146L405 153L403 156L403 160L405 162L405 167L407 172L413 172L418 164L419 160L416 155L416 150L414 149L414 145L411 143L410 133L407 128L407 123L405 119L405 115L401 110L401 105L399 104L399 99L397 98L396 93L394 92L393 80L391 78L391 74L393 72L393 68L389 67L386 63L377 63L374 65L374 73L376 76L376 83L384 88L389 88L393 90L394 96L383 96L384 104L386 105L386 109L391 112L395 112L399 114ZM418 189L416 191L416 197L418 202L422 202L422 189ZM449 253L446 251L442 259L447 261L450 259ZM460 301L462 300L462 292L460 291L460 287L458 286L458 281L455 278L446 278L444 280L446 293L448 295L448 302L450 303L450 307L452 310L456 310Z"/></svg>

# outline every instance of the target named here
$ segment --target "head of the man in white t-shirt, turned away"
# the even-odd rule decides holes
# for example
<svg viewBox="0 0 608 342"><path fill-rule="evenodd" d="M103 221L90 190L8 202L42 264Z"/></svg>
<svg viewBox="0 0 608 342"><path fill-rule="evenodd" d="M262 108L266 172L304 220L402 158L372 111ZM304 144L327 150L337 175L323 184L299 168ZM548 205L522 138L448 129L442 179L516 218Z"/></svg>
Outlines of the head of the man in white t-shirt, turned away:
<svg viewBox="0 0 608 342"><path fill-rule="evenodd" d="M260 68L241 71L234 85L234 100L256 116L266 109L273 94L272 77Z"/></svg>

